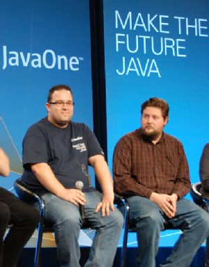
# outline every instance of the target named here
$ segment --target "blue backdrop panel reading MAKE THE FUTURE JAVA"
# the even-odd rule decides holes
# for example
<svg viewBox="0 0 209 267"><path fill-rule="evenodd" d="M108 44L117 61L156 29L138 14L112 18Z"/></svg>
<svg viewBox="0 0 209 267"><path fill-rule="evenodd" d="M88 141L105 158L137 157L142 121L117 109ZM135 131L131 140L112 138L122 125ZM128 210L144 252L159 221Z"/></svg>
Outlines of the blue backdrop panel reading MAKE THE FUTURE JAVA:
<svg viewBox="0 0 209 267"><path fill-rule="evenodd" d="M209 142L209 2L104 0L107 148L140 127L141 103L169 103L165 132L183 142L192 183ZM189 196L188 196L189 197Z"/></svg>

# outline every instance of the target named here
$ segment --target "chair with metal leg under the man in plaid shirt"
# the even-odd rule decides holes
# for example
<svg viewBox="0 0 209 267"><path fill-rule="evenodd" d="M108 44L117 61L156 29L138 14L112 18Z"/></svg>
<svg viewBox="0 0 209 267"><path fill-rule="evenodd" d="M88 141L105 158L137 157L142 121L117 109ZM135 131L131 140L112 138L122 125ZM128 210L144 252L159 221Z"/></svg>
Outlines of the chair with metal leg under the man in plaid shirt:
<svg viewBox="0 0 209 267"><path fill-rule="evenodd" d="M125 232L124 232L124 236L123 236L123 247L122 247L122 251L121 251L121 267L125 267L125 252L127 249L127 234L136 232L137 229L130 222L130 206L129 206L127 199L125 199L124 197L121 197L121 201L123 202L123 205L125 206L124 227L123 227ZM162 231L177 230L177 229L179 229L179 228L173 227L173 225L170 222L165 221L164 222L164 229Z"/></svg>

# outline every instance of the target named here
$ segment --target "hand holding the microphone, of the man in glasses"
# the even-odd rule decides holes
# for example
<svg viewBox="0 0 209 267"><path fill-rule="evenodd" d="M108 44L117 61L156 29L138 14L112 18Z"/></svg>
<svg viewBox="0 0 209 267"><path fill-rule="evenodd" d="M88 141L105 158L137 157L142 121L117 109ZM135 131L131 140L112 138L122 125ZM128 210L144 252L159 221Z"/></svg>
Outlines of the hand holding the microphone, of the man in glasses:
<svg viewBox="0 0 209 267"><path fill-rule="evenodd" d="M84 205L86 202L85 194L77 189L63 189L63 192L59 195L61 199L64 199L66 201L70 201L76 206L79 206L79 204Z"/></svg>

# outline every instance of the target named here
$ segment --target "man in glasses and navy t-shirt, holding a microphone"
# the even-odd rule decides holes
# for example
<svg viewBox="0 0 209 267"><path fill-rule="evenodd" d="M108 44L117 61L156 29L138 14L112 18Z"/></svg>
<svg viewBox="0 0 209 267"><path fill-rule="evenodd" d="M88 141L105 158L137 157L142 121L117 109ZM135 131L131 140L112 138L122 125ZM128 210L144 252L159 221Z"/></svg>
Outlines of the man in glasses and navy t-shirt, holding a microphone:
<svg viewBox="0 0 209 267"><path fill-rule="evenodd" d="M23 141L22 183L45 199L45 216L54 224L62 267L79 267L79 205L98 230L88 266L111 267L123 228L123 215L114 208L113 181L102 149L84 123L71 121L72 92L58 85L49 90L48 116L26 132ZM103 194L91 188L88 165L95 169ZM84 192L75 183L84 183Z"/></svg>

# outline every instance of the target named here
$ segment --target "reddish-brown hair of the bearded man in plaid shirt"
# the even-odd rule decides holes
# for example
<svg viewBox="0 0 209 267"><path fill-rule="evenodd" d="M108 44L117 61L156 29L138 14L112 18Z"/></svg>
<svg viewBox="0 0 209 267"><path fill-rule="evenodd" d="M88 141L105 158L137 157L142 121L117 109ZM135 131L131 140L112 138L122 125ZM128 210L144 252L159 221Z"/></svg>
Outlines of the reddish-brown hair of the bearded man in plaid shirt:
<svg viewBox="0 0 209 267"><path fill-rule="evenodd" d="M146 107L158 107L161 109L162 116L164 119L169 116L169 105L168 103L163 100L162 98L150 98L149 100L146 100L142 105L141 105L141 115L144 112L144 109Z"/></svg>

